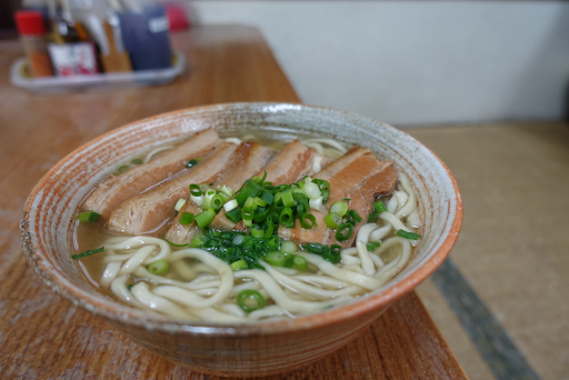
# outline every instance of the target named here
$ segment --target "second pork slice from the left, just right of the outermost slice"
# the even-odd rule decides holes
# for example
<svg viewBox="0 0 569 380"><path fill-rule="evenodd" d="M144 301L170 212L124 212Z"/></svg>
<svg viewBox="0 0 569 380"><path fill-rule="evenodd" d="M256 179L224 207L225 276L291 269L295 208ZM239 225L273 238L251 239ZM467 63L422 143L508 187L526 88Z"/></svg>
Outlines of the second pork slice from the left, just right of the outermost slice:
<svg viewBox="0 0 569 380"><path fill-rule="evenodd" d="M111 212L109 231L131 236L162 231L176 214L176 202L189 196L189 186L214 182L236 149L237 144L222 142L183 174L128 199Z"/></svg>

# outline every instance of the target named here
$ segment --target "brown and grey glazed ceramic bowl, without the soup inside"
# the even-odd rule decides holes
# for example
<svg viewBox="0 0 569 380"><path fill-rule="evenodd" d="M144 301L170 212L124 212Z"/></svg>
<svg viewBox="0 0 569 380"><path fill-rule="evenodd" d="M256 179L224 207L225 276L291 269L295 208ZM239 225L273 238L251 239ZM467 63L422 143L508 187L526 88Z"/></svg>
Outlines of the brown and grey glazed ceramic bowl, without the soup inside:
<svg viewBox="0 0 569 380"><path fill-rule="evenodd" d="M369 297L325 312L244 326L188 323L112 301L71 260L72 216L112 168L150 144L216 128L220 134L262 131L278 139L318 134L370 148L406 173L418 194L423 239L407 268ZM267 376L290 371L339 349L411 291L449 254L462 220L458 186L442 161L409 134L331 109L282 103L232 103L160 114L116 129L56 164L31 192L21 220L23 251L57 293L100 316L138 344L196 371Z"/></svg>

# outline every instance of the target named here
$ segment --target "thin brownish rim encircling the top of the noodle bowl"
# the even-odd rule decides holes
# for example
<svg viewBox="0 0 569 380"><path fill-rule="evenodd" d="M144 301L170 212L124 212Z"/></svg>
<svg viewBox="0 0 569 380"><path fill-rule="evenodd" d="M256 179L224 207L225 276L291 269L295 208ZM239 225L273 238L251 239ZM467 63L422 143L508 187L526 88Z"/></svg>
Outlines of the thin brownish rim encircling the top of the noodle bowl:
<svg viewBox="0 0 569 380"><path fill-rule="evenodd" d="M453 192L449 194L449 198L455 198L456 207L455 209L449 209L448 214L451 214L452 211L455 213L455 218L450 226L449 231L443 238L440 247L432 253L431 258L416 268L413 271L409 273L409 277L406 281L393 281L389 287L385 288L381 291L376 291L370 293L369 296L349 302L343 306L335 307L330 310L321 311L318 313L311 313L302 317L298 317L295 319L282 319L276 321L263 321L258 323L228 323L228 324L219 324L211 322L188 322L187 320L173 319L166 316L151 314L142 310L133 309L128 306L116 302L111 299L107 299L104 297L94 297L88 293L87 290L81 289L78 286L73 286L73 282L61 277L58 271L53 271L52 266L46 266L42 261L44 259L46 252L41 250L39 247L34 247L32 244L32 239L30 238L29 232L29 216L30 210L32 208L33 199L38 196L38 193L43 189L43 183L51 178L58 170L68 162L72 157L77 156L79 152L84 151L88 147L108 139L113 134L120 133L129 128L133 128L137 126L143 126L151 123L153 121L160 119L168 119L172 116L179 114L188 114L188 113L197 113L200 111L208 110L227 110L227 109L238 109L243 107L279 107L283 109L293 108L296 110L301 109L317 109L322 111L332 111L342 114L347 114L350 117L355 117L357 119L372 122L376 124L380 124L382 128L392 129L396 133L403 133L413 142L423 147L432 158L438 161L439 164L442 166L448 179L452 184ZM455 246L458 234L462 224L462 198L460 194L460 190L458 183L450 172L449 168L445 164L445 162L432 152L429 148L425 147L420 141L411 137L410 134L401 131L395 127L386 124L381 121L362 117L357 113L341 111L327 107L319 106L309 106L301 103L290 103L290 102L230 102L230 103L218 103L211 106L198 106L191 108L179 109L170 112L160 113L153 117L144 118L141 120L133 121L123 127L112 129L90 141L77 148L64 158L62 158L58 163L56 163L34 186L30 196L28 197L24 208L23 216L20 222L20 234L21 234L21 243L26 254L26 258L34 272L42 279L42 281L48 284L54 292L63 297L64 299L71 301L73 304L79 306L87 311L102 317L104 319L116 322L121 322L124 324L139 326L144 327L148 330L158 330L164 331L169 333L190 333L202 336L206 333L209 338L212 337L227 337L227 336L264 336L264 334L276 334L276 333L290 333L290 332L300 332L303 330L311 330L316 328L325 328L330 324L341 323L349 319L357 318L358 316L362 316L369 312L385 310L388 306L390 306L395 300L402 298L405 294L411 292L419 283L426 280L435 270L445 261L445 259L450 253L452 247ZM442 234L445 236L445 233ZM397 279L397 277L396 277ZM93 289L93 292L97 290ZM101 296L99 293L99 296Z"/></svg>

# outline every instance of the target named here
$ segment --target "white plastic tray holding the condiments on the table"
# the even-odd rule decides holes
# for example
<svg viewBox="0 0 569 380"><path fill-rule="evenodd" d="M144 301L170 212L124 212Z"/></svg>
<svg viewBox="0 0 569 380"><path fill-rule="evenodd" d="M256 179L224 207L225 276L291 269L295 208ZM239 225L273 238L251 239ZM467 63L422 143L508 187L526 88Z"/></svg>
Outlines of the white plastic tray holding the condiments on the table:
<svg viewBox="0 0 569 380"><path fill-rule="evenodd" d="M10 81L16 87L38 94L64 93L86 90L119 90L147 86L167 84L183 72L186 57L174 53L174 66L160 70L131 72L99 73L73 77L29 78L24 76L27 58L20 58L12 63Z"/></svg>

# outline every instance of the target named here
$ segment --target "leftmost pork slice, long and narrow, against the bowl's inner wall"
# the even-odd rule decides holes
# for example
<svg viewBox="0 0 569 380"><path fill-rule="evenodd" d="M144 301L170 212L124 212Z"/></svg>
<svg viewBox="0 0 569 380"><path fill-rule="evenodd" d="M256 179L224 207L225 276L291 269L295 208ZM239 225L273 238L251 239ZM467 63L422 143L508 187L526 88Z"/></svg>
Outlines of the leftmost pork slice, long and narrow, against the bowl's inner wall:
<svg viewBox="0 0 569 380"><path fill-rule="evenodd" d="M219 142L219 136L212 129L197 132L156 159L102 181L87 198L82 209L109 218L120 203L182 171L190 159L202 158Z"/></svg>

